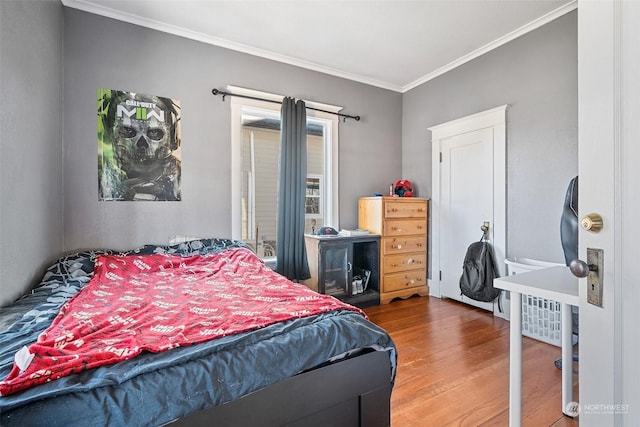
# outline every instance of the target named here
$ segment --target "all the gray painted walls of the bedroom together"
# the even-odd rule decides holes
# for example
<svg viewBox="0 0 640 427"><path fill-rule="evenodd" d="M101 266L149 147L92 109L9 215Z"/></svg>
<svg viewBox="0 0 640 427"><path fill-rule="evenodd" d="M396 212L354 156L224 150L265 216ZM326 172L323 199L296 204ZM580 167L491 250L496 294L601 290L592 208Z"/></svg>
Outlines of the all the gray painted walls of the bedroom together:
<svg viewBox="0 0 640 427"><path fill-rule="evenodd" d="M577 171L575 12L404 95L56 0L0 1L0 24L0 304L64 251L229 236L230 109L210 92L227 84L363 117L340 124L342 227L357 225L358 197L400 176L431 195L429 126L510 104L508 255L562 259L560 206ZM181 101L182 202L98 202L101 87Z"/></svg>

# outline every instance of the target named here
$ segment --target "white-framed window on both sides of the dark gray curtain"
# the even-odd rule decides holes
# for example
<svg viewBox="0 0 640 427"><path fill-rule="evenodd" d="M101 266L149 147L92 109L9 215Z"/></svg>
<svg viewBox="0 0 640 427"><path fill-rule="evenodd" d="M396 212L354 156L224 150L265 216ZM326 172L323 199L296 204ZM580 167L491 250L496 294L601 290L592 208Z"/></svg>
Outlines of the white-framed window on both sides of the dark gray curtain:
<svg viewBox="0 0 640 427"><path fill-rule="evenodd" d="M263 92L229 88L230 92L282 100ZM337 107L310 104L328 111ZM276 255L280 104L231 97L232 236L252 246L264 259ZM338 228L337 116L307 110L307 188L305 233Z"/></svg>

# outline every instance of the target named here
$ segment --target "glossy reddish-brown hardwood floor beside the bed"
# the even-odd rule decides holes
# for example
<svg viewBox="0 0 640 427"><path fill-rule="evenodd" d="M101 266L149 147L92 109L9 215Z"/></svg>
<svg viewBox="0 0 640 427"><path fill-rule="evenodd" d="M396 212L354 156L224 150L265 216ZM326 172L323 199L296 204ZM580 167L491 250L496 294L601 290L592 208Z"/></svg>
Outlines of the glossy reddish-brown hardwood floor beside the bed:
<svg viewBox="0 0 640 427"><path fill-rule="evenodd" d="M398 348L391 425L507 426L509 322L432 297L365 309ZM577 426L562 414L560 348L523 338L522 425ZM574 396L578 400L577 362Z"/></svg>

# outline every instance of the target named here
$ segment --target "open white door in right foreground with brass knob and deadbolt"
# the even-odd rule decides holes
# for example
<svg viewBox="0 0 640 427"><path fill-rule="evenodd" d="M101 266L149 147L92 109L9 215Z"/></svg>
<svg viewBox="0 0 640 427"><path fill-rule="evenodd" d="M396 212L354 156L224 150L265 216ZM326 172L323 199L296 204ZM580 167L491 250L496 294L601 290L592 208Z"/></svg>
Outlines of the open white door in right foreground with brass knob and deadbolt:
<svg viewBox="0 0 640 427"><path fill-rule="evenodd" d="M632 426L640 420L640 4L580 1L578 14L580 216L604 227L581 230L604 250L602 307L580 280L580 425Z"/></svg>

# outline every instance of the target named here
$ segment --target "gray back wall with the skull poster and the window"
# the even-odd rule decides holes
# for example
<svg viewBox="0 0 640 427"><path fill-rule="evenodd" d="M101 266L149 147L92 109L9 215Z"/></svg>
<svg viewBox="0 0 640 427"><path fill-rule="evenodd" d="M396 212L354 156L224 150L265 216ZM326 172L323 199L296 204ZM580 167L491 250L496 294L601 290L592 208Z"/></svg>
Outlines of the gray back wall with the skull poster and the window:
<svg viewBox="0 0 640 427"><path fill-rule="evenodd" d="M340 225L357 199L400 176L402 95L65 8L65 249L130 248L174 234L230 237L227 84L341 105ZM99 202L96 89L161 95L182 107L182 201Z"/></svg>

